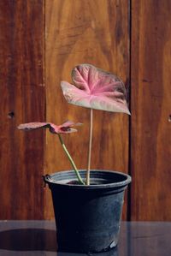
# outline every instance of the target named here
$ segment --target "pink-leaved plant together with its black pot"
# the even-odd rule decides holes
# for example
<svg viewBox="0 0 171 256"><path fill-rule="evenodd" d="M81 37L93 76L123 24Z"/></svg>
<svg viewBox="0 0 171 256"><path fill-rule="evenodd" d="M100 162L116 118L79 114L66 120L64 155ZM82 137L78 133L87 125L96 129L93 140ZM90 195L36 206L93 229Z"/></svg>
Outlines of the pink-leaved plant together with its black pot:
<svg viewBox="0 0 171 256"><path fill-rule="evenodd" d="M65 146L62 134L71 134L81 123L71 121L56 126L50 122L30 122L18 128L49 128L57 134L73 170L44 176L52 193L58 250L80 253L102 252L115 247L121 223L124 191L131 177L111 170L91 170L93 109L130 115L123 82L114 74L90 64L73 68L74 84L62 81L68 103L90 109L90 139L87 170L78 170Z"/></svg>

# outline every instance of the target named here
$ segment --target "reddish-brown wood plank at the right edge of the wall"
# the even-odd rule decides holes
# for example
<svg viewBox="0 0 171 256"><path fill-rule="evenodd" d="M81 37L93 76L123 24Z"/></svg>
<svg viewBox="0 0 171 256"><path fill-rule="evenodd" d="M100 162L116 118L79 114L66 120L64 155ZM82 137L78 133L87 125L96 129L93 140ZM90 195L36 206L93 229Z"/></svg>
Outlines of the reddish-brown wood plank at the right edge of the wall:
<svg viewBox="0 0 171 256"><path fill-rule="evenodd" d="M132 3L132 220L171 220L171 2Z"/></svg>

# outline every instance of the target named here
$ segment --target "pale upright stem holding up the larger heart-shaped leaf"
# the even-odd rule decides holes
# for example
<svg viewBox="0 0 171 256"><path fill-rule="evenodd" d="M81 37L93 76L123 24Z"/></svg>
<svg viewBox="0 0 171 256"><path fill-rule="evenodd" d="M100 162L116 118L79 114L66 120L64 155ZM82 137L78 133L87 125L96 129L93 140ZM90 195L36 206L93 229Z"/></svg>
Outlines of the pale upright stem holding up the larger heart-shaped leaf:
<svg viewBox="0 0 171 256"><path fill-rule="evenodd" d="M86 185L90 185L91 145L92 145L92 109L90 114L90 134L89 134L88 163L87 163L87 170L86 170Z"/></svg>

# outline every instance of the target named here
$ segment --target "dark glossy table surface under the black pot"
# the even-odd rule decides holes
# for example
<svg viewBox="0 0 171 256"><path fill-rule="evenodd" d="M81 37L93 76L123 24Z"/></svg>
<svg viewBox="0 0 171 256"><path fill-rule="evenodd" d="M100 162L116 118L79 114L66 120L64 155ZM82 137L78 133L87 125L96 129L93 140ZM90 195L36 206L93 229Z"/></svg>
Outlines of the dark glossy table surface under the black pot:
<svg viewBox="0 0 171 256"><path fill-rule="evenodd" d="M53 221L0 221L0 255L84 256L56 252ZM98 256L171 256L171 223L122 222L118 247Z"/></svg>

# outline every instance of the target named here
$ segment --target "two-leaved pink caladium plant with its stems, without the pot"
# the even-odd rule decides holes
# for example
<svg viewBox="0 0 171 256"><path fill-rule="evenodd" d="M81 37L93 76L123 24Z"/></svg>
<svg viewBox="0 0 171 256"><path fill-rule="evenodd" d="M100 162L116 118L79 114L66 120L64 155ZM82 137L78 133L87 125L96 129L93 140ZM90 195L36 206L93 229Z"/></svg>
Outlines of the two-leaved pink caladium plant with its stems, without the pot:
<svg viewBox="0 0 171 256"><path fill-rule="evenodd" d="M127 92L123 82L117 76L115 76L115 74L110 74L109 72L96 68L91 64L80 64L73 68L72 80L73 84L70 84L67 81L62 81L61 83L64 97L69 104L75 104L90 109L90 136L86 175L86 185L90 185L91 141L93 126L92 110L106 110L130 115L127 108ZM61 136L61 134L70 134L77 131L73 128L77 125L80 125L80 123L74 123L71 121L65 122L60 126L56 126L50 122L30 122L21 124L18 128L23 130L49 128L52 134L58 134L62 147L75 170L80 184L85 184L80 177L79 171L68 153Z"/></svg>

